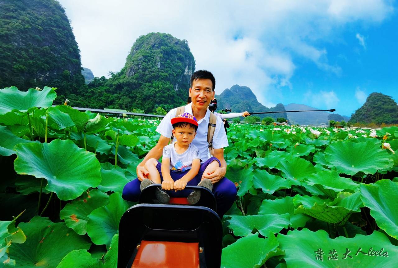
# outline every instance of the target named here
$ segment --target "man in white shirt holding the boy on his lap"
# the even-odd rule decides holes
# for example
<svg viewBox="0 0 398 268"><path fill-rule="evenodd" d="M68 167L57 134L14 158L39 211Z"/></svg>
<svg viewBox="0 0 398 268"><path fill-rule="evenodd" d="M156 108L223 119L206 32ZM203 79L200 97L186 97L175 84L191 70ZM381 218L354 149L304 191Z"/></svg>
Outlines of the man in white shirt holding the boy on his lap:
<svg viewBox="0 0 398 268"><path fill-rule="evenodd" d="M191 76L191 87L189 96L192 99L190 104L185 106L184 112L195 116L198 122L197 135L192 141L201 153L201 169L199 174L203 179L210 179L213 183L213 193L217 201L217 214L222 218L225 212L232 206L236 197L236 187L234 183L228 180L226 174L226 162L224 159L224 147L228 147L228 139L224 131L224 125L217 116L217 123L213 135L214 157L209 153L209 144L207 143L207 131L210 120L210 111L208 106L215 96L215 78L209 71L196 71ZM162 156L163 148L169 144L172 136L171 118L176 117L177 108L170 110L159 124L156 131L160 133L158 143L153 147L142 162L137 166L137 179L127 183L123 189L123 198L128 201L138 201L140 195L140 182L147 178L148 170L144 167L146 161L150 158L159 159ZM217 160L219 167L205 165L208 161ZM206 168L204 168L207 166ZM203 167L203 168L202 168Z"/></svg>

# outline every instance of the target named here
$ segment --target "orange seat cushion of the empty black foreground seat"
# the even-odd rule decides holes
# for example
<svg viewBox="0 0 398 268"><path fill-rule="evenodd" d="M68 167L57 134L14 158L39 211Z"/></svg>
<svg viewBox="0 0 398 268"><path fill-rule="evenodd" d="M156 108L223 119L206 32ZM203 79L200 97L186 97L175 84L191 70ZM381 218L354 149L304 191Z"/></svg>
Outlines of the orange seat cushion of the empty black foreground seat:
<svg viewBox="0 0 398 268"><path fill-rule="evenodd" d="M199 268L199 243L142 241L131 268Z"/></svg>

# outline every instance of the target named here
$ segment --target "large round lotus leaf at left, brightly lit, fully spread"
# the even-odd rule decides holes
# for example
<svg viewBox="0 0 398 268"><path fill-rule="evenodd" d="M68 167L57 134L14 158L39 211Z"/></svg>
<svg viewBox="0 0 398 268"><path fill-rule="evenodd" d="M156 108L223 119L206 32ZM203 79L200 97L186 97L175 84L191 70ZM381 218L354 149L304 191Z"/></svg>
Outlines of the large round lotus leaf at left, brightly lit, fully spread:
<svg viewBox="0 0 398 268"><path fill-rule="evenodd" d="M19 144L15 150L15 171L47 179L45 188L61 200L75 199L101 182L101 166L95 155L70 140Z"/></svg>

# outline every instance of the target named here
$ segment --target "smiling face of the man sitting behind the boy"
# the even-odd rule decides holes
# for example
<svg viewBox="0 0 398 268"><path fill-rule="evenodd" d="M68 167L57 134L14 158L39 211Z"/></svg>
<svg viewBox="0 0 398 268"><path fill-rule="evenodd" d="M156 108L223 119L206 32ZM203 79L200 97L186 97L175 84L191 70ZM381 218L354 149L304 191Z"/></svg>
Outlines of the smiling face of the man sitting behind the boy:
<svg viewBox="0 0 398 268"><path fill-rule="evenodd" d="M213 83L210 79L196 79L189 89L192 105L197 109L207 109L214 98Z"/></svg>

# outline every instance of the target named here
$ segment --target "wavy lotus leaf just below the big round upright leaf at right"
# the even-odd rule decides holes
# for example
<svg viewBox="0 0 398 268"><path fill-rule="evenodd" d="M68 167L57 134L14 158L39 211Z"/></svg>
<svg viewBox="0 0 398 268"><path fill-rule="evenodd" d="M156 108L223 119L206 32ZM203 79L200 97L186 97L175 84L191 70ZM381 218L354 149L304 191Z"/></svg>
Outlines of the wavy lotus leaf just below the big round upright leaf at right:
<svg viewBox="0 0 398 268"><path fill-rule="evenodd" d="M326 195L331 199L337 197L337 193L349 191L354 193L359 184L353 182L349 178L340 177L335 171L320 171L316 174L311 174L306 179L306 183L302 186L313 195Z"/></svg>

